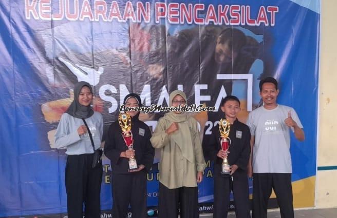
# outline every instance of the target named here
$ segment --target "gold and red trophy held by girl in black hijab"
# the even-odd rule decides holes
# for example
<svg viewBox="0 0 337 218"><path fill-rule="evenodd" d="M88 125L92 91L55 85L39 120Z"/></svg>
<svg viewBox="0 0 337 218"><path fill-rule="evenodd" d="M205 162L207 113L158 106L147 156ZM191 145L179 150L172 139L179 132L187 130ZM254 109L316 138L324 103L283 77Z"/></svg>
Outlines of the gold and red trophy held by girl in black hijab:
<svg viewBox="0 0 337 218"><path fill-rule="evenodd" d="M128 149L133 149L133 144L134 144L134 140L133 140L133 135L132 135L132 131L131 131L131 117L129 114L127 113L120 113L118 115L118 122L119 122L119 126L122 129L122 136L124 139L124 142L127 146ZM128 171L134 171L138 168L137 162L136 162L136 158L134 156L129 158L129 169Z"/></svg>

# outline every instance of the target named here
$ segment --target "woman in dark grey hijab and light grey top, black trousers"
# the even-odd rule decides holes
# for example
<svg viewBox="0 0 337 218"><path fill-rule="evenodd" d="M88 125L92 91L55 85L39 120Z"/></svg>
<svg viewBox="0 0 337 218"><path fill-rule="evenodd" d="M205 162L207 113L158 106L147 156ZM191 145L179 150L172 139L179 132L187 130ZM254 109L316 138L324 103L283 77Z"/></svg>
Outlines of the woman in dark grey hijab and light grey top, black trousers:
<svg viewBox="0 0 337 218"><path fill-rule="evenodd" d="M74 101L62 115L55 133L55 146L66 148L68 155L65 183L69 218L83 217L83 203L85 217L99 218L101 215L102 162L93 169L91 166L93 145L95 150L101 146L103 118L99 112L91 109L91 102L91 86L86 82L75 84Z"/></svg>

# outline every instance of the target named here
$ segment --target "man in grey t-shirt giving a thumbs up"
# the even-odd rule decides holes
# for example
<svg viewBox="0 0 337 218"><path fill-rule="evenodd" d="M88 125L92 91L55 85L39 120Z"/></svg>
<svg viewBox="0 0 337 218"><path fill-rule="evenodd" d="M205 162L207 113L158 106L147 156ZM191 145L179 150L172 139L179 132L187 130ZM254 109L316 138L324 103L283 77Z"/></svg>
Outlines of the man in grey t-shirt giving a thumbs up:
<svg viewBox="0 0 337 218"><path fill-rule="evenodd" d="M282 218L293 218L291 187L290 130L304 141L301 121L291 107L279 105L277 81L260 81L264 105L250 112L251 156L248 175L253 180L253 218L267 218L267 205L274 189Z"/></svg>

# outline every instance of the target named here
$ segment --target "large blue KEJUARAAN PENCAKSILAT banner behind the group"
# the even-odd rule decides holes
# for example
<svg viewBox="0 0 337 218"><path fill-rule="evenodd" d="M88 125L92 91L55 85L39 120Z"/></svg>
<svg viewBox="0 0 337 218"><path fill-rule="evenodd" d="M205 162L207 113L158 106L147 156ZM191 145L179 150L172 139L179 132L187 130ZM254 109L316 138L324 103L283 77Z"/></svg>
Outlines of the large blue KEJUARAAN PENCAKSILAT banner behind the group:
<svg viewBox="0 0 337 218"><path fill-rule="evenodd" d="M53 149L53 141L78 81L93 87L94 109L106 130L129 92L140 94L146 106L166 106L176 89L186 93L188 104L217 109L222 97L236 95L245 122L261 105L260 79L274 76L278 103L297 111L306 132L303 143L291 144L294 205L312 207L319 13L319 0L2 0L0 216L66 213L66 155ZM154 130L162 115L140 118ZM191 115L208 146L223 114ZM156 214L159 161L156 151L147 175L149 216ZM109 210L111 167L106 157L103 163L101 205ZM201 212L212 211L212 177L208 161L199 184Z"/></svg>

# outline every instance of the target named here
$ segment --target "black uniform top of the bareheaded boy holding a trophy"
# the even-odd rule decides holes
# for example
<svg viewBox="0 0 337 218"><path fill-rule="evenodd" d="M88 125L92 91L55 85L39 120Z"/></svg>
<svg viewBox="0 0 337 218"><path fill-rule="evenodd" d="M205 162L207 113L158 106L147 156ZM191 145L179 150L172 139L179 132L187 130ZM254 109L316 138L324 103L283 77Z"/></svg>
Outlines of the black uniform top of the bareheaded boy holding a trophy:
<svg viewBox="0 0 337 218"><path fill-rule="evenodd" d="M233 176L247 176L247 165L250 156L250 130L249 127L235 120L231 125L229 133L230 146L228 154L228 162L230 165L236 164L239 168L235 171ZM217 156L221 149L219 126L216 125L212 129L209 145L207 151L209 157L214 161L214 170L221 170L223 159Z"/></svg>

